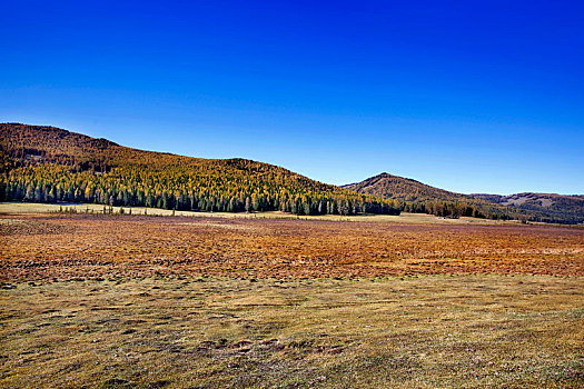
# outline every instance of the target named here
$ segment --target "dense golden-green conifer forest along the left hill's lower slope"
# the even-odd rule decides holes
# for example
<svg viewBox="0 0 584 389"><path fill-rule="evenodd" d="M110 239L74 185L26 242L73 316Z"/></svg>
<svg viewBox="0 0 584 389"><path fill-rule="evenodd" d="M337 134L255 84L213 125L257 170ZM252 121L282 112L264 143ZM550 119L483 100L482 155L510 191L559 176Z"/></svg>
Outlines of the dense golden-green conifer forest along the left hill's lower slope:
<svg viewBox="0 0 584 389"><path fill-rule="evenodd" d="M402 208L392 200L349 191L317 192L253 177L225 179L217 174L152 173L130 168L101 173L57 164L11 169L0 182L0 199L219 212L279 210L296 215L399 215Z"/></svg>

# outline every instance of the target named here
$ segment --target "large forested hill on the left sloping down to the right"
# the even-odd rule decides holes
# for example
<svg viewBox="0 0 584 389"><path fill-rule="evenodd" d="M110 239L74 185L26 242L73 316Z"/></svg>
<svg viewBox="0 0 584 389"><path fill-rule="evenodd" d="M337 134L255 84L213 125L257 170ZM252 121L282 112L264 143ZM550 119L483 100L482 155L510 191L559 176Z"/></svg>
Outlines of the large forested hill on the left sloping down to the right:
<svg viewBox="0 0 584 389"><path fill-rule="evenodd" d="M268 163L137 150L53 127L1 123L0 163L0 200L299 215L402 207Z"/></svg>

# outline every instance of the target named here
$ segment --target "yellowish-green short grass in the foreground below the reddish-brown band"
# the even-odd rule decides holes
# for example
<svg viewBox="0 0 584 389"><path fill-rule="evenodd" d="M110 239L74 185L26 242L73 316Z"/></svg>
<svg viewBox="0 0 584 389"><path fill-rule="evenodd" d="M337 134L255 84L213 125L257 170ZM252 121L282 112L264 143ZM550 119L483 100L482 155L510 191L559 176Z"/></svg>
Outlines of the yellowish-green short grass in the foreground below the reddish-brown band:
<svg viewBox="0 0 584 389"><path fill-rule="evenodd" d="M106 278L0 298L3 388L584 386L580 277Z"/></svg>

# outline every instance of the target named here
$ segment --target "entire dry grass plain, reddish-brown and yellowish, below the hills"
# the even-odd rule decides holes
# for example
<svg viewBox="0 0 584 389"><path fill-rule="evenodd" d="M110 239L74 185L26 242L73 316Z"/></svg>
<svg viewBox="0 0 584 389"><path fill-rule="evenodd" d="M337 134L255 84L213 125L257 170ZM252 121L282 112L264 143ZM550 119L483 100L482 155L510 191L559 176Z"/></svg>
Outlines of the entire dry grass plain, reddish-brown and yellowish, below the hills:
<svg viewBox="0 0 584 389"><path fill-rule="evenodd" d="M0 387L584 386L582 228L366 218L3 215Z"/></svg>

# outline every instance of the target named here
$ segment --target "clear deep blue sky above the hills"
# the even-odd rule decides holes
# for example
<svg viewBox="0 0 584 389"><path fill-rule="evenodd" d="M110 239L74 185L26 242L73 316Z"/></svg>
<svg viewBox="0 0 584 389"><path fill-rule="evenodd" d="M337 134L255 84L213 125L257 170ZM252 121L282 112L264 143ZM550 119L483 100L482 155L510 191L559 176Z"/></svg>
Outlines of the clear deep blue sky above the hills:
<svg viewBox="0 0 584 389"><path fill-rule="evenodd" d="M0 0L0 121L330 182L584 193L582 1Z"/></svg>

